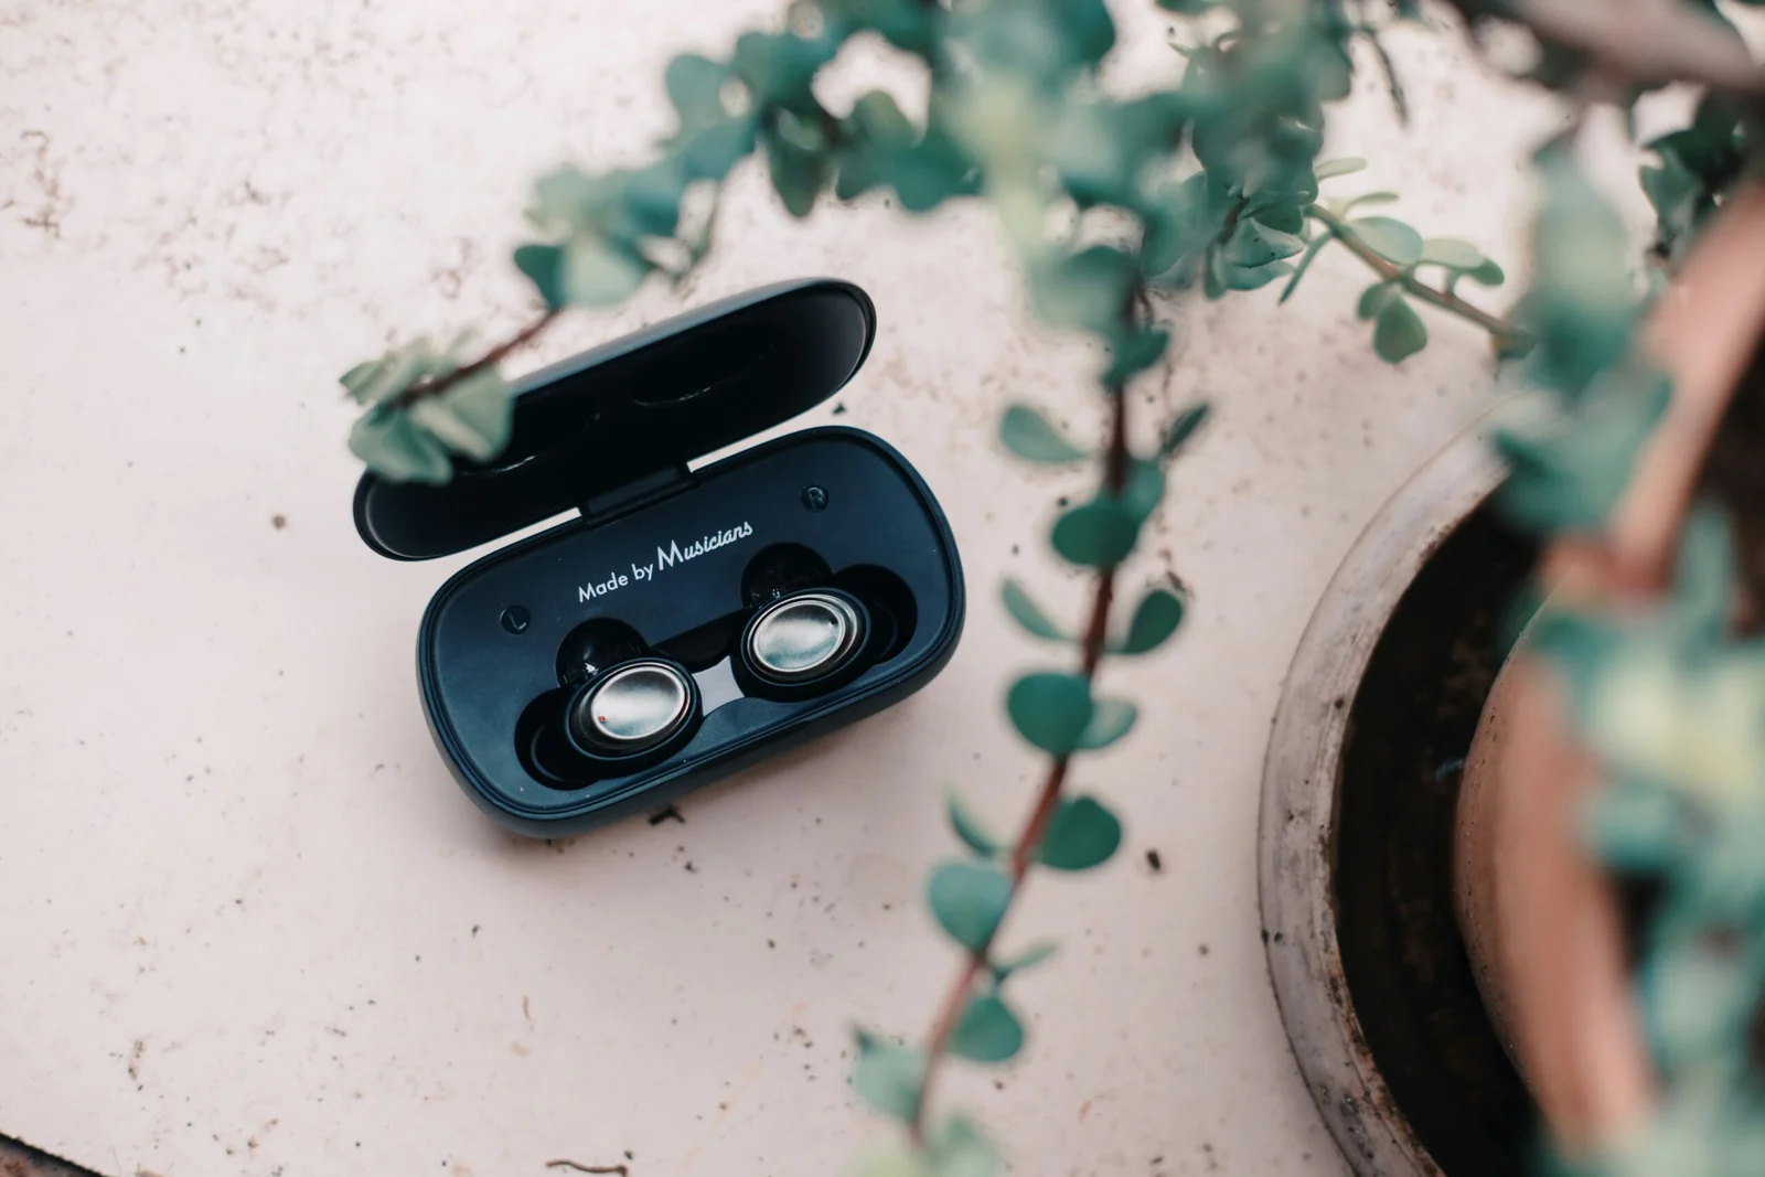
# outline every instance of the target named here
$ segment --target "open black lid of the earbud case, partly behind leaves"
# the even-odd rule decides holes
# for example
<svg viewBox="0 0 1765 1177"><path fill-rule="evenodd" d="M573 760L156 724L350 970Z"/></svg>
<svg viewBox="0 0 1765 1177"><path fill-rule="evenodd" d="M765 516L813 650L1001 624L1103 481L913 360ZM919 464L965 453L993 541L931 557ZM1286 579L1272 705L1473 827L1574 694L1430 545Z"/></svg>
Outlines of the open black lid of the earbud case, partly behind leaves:
<svg viewBox="0 0 1765 1177"><path fill-rule="evenodd" d="M381 556L432 559L678 471L821 404L875 339L851 282L766 286L515 381L508 448L454 482L362 476L355 526Z"/></svg>

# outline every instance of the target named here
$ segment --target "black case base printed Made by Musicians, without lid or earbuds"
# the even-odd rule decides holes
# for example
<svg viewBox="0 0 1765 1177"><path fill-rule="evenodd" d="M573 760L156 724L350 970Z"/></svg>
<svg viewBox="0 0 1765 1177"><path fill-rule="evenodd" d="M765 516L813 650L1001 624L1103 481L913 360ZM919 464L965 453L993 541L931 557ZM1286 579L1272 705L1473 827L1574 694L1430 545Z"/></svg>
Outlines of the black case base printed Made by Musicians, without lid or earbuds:
<svg viewBox="0 0 1765 1177"><path fill-rule="evenodd" d="M803 503L810 485L826 491L819 510ZM731 531L743 535L671 559ZM535 771L519 732L531 734L558 697L558 651L574 630L616 618L704 671L720 646L701 630L722 621L734 651L743 577L780 545L814 552L830 584L886 614L893 637L879 660L814 697L724 702L683 748L628 775ZM501 625L512 605L530 616L521 633ZM429 605L418 671L436 743L468 794L522 833L556 836L651 810L913 693L950 660L962 611L950 528L913 468L861 431L810 429L710 466L641 510L567 522L469 565Z"/></svg>

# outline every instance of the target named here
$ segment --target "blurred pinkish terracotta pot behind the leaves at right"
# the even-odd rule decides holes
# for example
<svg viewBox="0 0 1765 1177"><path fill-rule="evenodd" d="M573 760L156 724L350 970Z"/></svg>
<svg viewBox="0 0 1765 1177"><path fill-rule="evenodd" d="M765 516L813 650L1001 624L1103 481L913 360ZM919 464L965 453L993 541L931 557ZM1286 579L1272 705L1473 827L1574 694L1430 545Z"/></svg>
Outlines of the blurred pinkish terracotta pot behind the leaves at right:
<svg viewBox="0 0 1765 1177"><path fill-rule="evenodd" d="M1693 498L1710 489L1717 466L1735 466L1719 448L1730 408L1758 408L1749 404L1754 381L1747 402L1735 390L1756 365L1761 326L1765 187L1753 187L1705 231L1649 323L1647 348L1673 376L1671 406L1606 531L1543 554L1555 600L1624 612L1664 593ZM1758 506L1730 505L1742 552L1758 551L1765 526L1749 505ZM1560 683L1521 639L1467 757L1454 889L1497 1032L1553 1138L1571 1151L1636 1124L1654 1098L1620 900L1576 835L1594 787L1597 769L1569 729Z"/></svg>

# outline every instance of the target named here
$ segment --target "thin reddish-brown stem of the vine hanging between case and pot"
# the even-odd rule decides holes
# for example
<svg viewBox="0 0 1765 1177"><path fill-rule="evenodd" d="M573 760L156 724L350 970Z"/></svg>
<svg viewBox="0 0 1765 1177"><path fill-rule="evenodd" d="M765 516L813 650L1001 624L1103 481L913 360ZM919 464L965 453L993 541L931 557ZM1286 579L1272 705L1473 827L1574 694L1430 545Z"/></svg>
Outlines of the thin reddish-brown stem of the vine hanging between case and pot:
<svg viewBox="0 0 1765 1177"><path fill-rule="evenodd" d="M1119 494L1128 478L1128 397L1119 388L1110 388L1110 427L1108 427L1108 450L1103 455L1103 485L1112 492ZM1108 641L1108 611L1115 600L1115 570L1103 568L1098 572L1096 588L1091 593L1091 618L1085 623L1084 637L1080 639L1080 665L1078 672L1084 674L1085 681L1093 681L1098 672L1098 663L1103 660L1103 648ZM1024 822L1022 831L1011 843L1011 852L1006 859L1006 879L1011 882L1011 891L1006 898L1006 911L1017 902L1018 893L1024 888L1024 875L1029 873L1031 863L1036 859L1036 851L1041 847L1043 836L1048 833L1048 822L1054 821L1055 810L1061 806L1061 791L1066 787L1066 768L1070 757L1055 757L1048 762L1048 773L1041 778L1041 787L1036 791L1036 805L1029 812L1029 819ZM1001 919L1001 923L1004 923ZM997 935L997 926L994 928ZM937 1009L937 1016L932 1020L932 1032L925 1039L925 1075L920 1082L918 1099L913 1106L913 1121L909 1122L909 1133L914 1143L925 1143L925 1112L930 1101L932 1078L937 1073L939 1062L944 1059L944 1052L950 1046L950 1036L957 1031L957 1022L962 1018L962 1011L969 1006L969 995L974 992L974 983L980 979L981 971L987 967L987 960L992 953L994 935L971 951L962 962L962 969L957 974L957 983L950 986L944 995L943 1004Z"/></svg>

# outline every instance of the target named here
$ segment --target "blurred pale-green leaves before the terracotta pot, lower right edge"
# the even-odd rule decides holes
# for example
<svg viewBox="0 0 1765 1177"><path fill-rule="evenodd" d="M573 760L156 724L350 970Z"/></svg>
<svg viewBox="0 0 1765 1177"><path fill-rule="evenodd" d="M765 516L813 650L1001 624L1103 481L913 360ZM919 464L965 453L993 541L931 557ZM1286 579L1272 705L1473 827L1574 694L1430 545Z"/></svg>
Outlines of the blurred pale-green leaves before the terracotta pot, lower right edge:
<svg viewBox="0 0 1765 1177"><path fill-rule="evenodd" d="M1765 1004L1765 641L1728 633L1731 566L1726 524L1698 508L1661 609L1534 625L1610 780L1587 836L1659 895L1636 986L1666 1089L1638 1136L1597 1158L1592 1172L1615 1177L1746 1172L1765 1143L1749 1055Z"/></svg>

